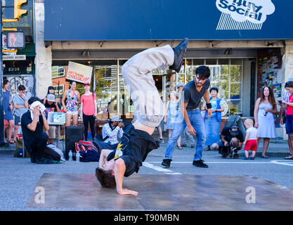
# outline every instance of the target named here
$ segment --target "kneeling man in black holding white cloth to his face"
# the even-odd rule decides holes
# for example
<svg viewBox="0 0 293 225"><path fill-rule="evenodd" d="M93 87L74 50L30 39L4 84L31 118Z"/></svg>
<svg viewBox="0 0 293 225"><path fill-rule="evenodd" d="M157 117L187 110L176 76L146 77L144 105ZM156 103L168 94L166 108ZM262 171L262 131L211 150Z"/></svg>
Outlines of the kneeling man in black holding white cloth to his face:
<svg viewBox="0 0 293 225"><path fill-rule="evenodd" d="M36 106L31 109L33 103ZM29 110L21 117L23 141L30 154L31 161L44 163L44 150L48 141L48 134L43 129L48 131L49 125L44 112L40 110L41 99L32 97L29 99L28 104Z"/></svg>

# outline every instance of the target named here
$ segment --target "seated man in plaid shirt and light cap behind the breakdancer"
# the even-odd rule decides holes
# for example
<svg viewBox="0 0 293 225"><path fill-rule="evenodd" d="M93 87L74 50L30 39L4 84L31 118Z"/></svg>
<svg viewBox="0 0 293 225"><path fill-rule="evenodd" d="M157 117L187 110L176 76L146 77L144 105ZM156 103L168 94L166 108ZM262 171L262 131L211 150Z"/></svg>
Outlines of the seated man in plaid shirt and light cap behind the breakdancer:
<svg viewBox="0 0 293 225"><path fill-rule="evenodd" d="M114 145L117 146L117 143L119 143L119 140L123 136L123 126L124 124L122 120L119 119L118 115L113 115L110 119L110 122L103 126L103 139L105 139L108 136L108 138L105 139L105 142L110 143L110 145L113 146L113 148L115 148Z"/></svg>

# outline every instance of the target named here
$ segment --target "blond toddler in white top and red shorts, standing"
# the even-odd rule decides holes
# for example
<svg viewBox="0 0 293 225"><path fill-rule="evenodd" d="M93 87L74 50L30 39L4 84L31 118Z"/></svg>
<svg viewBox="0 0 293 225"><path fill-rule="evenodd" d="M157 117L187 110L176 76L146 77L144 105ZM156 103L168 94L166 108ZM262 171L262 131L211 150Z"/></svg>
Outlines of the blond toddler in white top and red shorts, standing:
<svg viewBox="0 0 293 225"><path fill-rule="evenodd" d="M245 141L243 143L245 144L245 158L242 158L242 160L254 160L257 150L257 129L254 127L252 119L245 120L245 128L247 129ZM249 150L252 150L251 157L249 157Z"/></svg>

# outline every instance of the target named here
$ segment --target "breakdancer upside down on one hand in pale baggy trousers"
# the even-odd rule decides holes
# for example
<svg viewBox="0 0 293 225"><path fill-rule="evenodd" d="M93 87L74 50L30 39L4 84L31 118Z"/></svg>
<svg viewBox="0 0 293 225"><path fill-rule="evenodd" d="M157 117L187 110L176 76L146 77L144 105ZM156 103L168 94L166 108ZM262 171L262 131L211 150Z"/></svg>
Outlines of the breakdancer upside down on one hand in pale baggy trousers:
<svg viewBox="0 0 293 225"><path fill-rule="evenodd" d="M124 176L138 172L142 162L159 142L151 136L164 117L164 104L152 78L158 68L179 72L188 39L172 49L166 45L147 49L131 57L122 67L124 81L136 106L136 120L124 127L117 150L103 149L96 176L101 186L116 186L119 195L137 195L123 188Z"/></svg>

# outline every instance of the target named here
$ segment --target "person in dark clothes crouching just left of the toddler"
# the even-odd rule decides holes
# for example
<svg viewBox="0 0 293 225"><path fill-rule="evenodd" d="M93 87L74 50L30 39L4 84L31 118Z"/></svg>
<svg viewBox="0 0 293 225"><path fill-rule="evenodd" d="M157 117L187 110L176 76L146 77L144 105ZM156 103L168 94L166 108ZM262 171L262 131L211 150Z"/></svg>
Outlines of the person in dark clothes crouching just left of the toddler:
<svg viewBox="0 0 293 225"><path fill-rule="evenodd" d="M243 145L243 134L238 129L237 125L232 125L231 127L224 127L221 131L221 140L218 143L213 143L211 148L219 150L219 146L230 146L230 158L239 158L238 150L241 150Z"/></svg>

